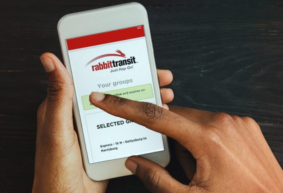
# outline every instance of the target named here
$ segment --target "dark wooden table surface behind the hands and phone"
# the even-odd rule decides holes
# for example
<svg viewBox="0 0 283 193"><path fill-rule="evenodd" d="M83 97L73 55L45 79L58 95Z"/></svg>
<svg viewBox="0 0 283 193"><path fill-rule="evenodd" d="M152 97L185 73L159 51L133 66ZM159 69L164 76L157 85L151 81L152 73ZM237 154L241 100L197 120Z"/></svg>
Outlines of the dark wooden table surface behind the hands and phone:
<svg viewBox="0 0 283 193"><path fill-rule="evenodd" d="M36 110L46 96L39 61L60 58L57 22L71 12L122 0L6 1L0 7L0 192L30 192ZM173 104L253 117L283 166L282 0L141 1L148 11L158 68L170 69ZM174 156L167 167L188 183ZM251 163L252 164L252 163ZM108 192L146 192L135 177Z"/></svg>

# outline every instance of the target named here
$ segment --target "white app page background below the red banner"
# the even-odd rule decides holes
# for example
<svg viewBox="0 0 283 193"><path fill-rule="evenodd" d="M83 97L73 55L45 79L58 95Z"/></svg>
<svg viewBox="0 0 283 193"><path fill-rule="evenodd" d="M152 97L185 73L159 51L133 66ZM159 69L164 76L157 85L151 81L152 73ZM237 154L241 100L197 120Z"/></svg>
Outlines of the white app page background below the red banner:
<svg viewBox="0 0 283 193"><path fill-rule="evenodd" d="M99 55L117 54L117 49L121 50L126 58L108 56L85 66L87 62ZM92 71L91 66L99 62L118 61L128 59L131 56L136 58L137 63ZM84 110L81 100L82 96L90 95L93 91L107 92L151 84L153 97L141 101L156 103L144 37L70 50L69 58L89 163L164 150L161 134L136 123L126 123L125 119L112 116L99 108ZM133 68L127 69L128 66ZM119 70L119 68L126 68L126 70ZM110 72L115 69L118 69L118 71ZM129 84L113 85L113 82L130 79L133 82ZM99 84L101 84L100 88ZM102 88L103 84L105 85L104 88ZM124 121L123 125L97 129L97 125L122 120ZM135 141L138 139L142 139L142 141ZM131 140L134 142L130 142Z"/></svg>

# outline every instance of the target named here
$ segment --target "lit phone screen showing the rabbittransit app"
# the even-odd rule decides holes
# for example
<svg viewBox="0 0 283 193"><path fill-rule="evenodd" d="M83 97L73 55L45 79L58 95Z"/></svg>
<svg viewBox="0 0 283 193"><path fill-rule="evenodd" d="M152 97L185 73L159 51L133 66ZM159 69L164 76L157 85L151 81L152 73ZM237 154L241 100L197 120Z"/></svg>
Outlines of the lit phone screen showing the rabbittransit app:
<svg viewBox="0 0 283 193"><path fill-rule="evenodd" d="M106 113L92 91L156 104L143 25L66 40L89 163L164 150L160 133Z"/></svg>

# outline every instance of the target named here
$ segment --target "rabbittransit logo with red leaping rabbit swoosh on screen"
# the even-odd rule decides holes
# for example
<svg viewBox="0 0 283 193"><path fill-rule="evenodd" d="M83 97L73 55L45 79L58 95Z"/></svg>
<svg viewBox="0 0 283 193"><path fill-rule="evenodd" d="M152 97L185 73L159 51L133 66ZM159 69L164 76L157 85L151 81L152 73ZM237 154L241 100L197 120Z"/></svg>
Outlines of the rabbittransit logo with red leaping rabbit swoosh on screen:
<svg viewBox="0 0 283 193"><path fill-rule="evenodd" d="M127 58L126 54L123 53L122 51L120 51L119 49L117 49L116 52L117 53L107 53L107 54L99 55L99 56L91 59L89 62L87 62L85 66L88 66L90 63L93 63L95 60L98 60L98 59L103 58L103 57L109 57L109 56L123 57L123 58L126 58L126 59L108 60L108 61L103 61L102 63L98 62L98 64L94 64L94 65L91 66L91 70L92 71L98 71L98 70L116 68L116 67L121 67L121 66L125 66L125 65L131 65L131 64L138 63L136 61L135 56L131 56L130 58Z"/></svg>

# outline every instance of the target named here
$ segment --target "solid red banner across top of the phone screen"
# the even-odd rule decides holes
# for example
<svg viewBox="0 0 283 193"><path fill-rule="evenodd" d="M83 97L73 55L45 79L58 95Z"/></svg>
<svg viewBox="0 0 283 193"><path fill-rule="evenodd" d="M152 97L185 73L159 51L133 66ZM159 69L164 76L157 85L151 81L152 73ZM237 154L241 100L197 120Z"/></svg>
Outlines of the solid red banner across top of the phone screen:
<svg viewBox="0 0 283 193"><path fill-rule="evenodd" d="M143 25L66 40L68 50L144 37Z"/></svg>

